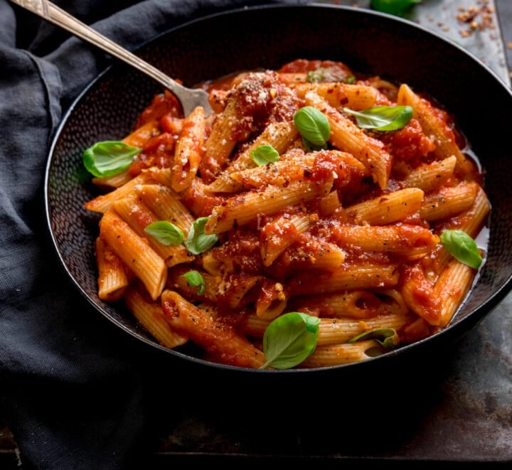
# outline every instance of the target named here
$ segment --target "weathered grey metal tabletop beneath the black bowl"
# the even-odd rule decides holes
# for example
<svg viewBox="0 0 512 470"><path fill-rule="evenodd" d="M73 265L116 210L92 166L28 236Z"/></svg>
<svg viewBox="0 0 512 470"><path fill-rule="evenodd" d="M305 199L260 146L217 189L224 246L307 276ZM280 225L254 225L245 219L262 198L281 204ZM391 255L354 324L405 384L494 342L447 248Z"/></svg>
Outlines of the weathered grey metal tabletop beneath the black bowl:
<svg viewBox="0 0 512 470"><path fill-rule="evenodd" d="M467 48L510 85L506 57L512 59L507 46L512 41L512 2L508 2L424 0L412 9L409 18ZM319 3L365 8L370 1ZM471 7L481 6L496 8L500 21L494 14L490 24L471 30L471 23L457 19ZM474 21L482 18L476 16ZM284 411L250 410L247 397L248 412L240 407L239 412L228 413L216 408L214 402L206 402L208 397L213 398L209 395L213 385L203 384L197 406L188 400L185 406L174 407L169 420L162 423L161 441L149 465L166 466L169 456L175 463L183 459L188 464L213 456L225 461L250 456L263 461L279 457L290 462L301 459L334 464L511 464L511 339L509 295L449 351L413 363L407 376L375 378L373 392L358 397L358 409L339 398L339 391L351 384L333 383L321 390L321 396L314 384L297 390L294 397L282 396ZM390 392L387 380L394 385L403 380L402 395ZM243 383L233 384L234 395L246 392ZM275 396L282 390L256 393L260 400L262 395ZM234 404L240 405L240 400L234 400ZM16 444L0 420L0 467L15 463L16 454Z"/></svg>

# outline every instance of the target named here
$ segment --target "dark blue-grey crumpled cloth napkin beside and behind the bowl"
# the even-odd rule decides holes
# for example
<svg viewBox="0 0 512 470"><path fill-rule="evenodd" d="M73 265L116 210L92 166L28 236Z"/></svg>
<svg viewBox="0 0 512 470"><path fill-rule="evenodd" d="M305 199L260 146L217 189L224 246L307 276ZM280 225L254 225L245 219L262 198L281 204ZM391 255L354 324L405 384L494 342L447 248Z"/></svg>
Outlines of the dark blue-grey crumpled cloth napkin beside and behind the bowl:
<svg viewBox="0 0 512 470"><path fill-rule="evenodd" d="M136 48L191 18L277 2L55 3ZM46 228L43 175L53 133L111 63L95 46L0 0L0 406L27 469L141 468L158 444L155 423L196 390L181 365L116 329L78 294Z"/></svg>

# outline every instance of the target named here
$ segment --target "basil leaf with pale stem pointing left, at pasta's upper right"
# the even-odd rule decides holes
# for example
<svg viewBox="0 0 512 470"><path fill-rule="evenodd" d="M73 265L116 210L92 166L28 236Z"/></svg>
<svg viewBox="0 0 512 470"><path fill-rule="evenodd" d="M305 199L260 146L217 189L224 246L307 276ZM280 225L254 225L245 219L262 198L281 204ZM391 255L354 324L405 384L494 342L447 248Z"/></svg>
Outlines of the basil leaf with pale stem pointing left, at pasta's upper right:
<svg viewBox="0 0 512 470"><path fill-rule="evenodd" d="M363 111L344 107L343 111L356 117L358 126L376 131L396 131L407 126L412 118L410 106L374 106Z"/></svg>

